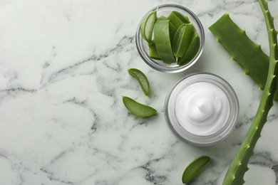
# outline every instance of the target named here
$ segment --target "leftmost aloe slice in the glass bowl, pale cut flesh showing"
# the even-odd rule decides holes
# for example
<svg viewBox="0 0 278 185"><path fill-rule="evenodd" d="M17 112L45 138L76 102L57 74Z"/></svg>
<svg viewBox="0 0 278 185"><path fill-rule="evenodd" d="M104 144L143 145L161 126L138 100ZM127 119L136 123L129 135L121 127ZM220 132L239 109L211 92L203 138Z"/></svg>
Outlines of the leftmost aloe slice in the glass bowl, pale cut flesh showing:
<svg viewBox="0 0 278 185"><path fill-rule="evenodd" d="M150 11L144 18L140 25L141 36L147 42L152 41L153 36L153 27L155 26L156 21L156 11Z"/></svg>

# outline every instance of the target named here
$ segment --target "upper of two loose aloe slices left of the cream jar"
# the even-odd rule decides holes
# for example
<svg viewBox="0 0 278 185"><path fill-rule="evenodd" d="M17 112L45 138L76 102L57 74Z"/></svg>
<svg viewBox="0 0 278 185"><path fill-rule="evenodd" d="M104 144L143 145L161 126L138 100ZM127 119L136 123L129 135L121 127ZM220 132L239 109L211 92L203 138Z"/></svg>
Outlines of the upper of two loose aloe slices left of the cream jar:
<svg viewBox="0 0 278 185"><path fill-rule="evenodd" d="M130 75L133 75L133 77L136 78L136 80L138 80L138 83L140 84L143 93L148 96L150 93L150 83L145 74L142 71L135 68L130 68L128 70L128 73L130 73Z"/></svg>

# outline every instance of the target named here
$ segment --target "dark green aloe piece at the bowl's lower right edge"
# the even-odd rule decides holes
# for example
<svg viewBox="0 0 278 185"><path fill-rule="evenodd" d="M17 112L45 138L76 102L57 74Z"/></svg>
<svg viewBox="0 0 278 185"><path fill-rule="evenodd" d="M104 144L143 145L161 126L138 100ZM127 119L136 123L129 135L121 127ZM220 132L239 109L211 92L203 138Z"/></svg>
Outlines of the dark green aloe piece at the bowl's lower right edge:
<svg viewBox="0 0 278 185"><path fill-rule="evenodd" d="M189 63L198 53L200 48L200 38L198 36L198 33L195 31L192 36L192 40L190 41L189 47L187 52L185 53L182 58L179 58L177 60L178 65L185 65Z"/></svg>

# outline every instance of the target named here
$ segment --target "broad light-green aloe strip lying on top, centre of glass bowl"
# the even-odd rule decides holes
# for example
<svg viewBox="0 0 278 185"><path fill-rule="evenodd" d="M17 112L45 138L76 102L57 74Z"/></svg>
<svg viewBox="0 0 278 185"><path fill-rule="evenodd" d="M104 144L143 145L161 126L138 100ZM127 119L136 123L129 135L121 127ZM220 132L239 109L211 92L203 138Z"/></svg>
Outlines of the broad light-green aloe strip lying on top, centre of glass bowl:
<svg viewBox="0 0 278 185"><path fill-rule="evenodd" d="M164 63L175 63L175 57L173 56L170 31L169 31L169 20L155 21L154 36L155 46L158 51L158 55Z"/></svg>

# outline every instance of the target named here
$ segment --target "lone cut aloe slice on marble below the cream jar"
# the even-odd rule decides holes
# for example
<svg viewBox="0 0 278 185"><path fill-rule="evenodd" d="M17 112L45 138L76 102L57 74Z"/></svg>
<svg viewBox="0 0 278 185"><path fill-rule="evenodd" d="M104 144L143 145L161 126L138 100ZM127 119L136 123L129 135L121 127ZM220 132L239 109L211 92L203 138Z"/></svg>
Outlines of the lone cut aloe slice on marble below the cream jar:
<svg viewBox="0 0 278 185"><path fill-rule="evenodd" d="M202 162L202 164L198 166L198 169L195 171L195 174L192 174L192 176L187 177L185 179L185 176L187 175L188 170L191 170L190 168L192 168L192 165L197 165L196 163L199 162L199 160L204 159L204 158L206 159L205 162ZM209 162L210 162L210 157L208 157L208 156L200 156L200 157L197 157L196 159L194 159L192 162L190 162L190 164L188 164L188 166L185 168L185 171L183 171L183 174L182 174L182 183L185 184L185 183L188 183L189 181L192 181L192 179L194 179L195 176L200 174L202 169L204 169L205 166Z"/></svg>

